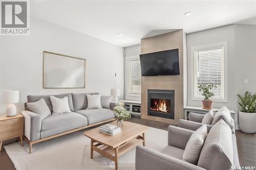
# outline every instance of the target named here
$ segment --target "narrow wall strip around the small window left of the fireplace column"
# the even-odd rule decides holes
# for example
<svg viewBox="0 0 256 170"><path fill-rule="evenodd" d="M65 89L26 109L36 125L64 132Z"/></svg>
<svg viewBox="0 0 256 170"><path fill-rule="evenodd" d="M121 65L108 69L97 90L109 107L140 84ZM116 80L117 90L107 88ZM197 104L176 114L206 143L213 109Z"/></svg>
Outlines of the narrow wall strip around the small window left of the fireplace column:
<svg viewBox="0 0 256 170"><path fill-rule="evenodd" d="M132 56L139 56L140 53L140 44L138 45L133 45L133 46L128 46L124 48L124 82L126 82L126 57L132 57ZM138 96L131 96L131 95L126 95L126 83L124 83L124 99L125 100L133 100L133 101L141 101L141 97Z"/></svg>

